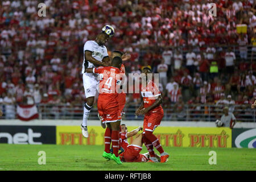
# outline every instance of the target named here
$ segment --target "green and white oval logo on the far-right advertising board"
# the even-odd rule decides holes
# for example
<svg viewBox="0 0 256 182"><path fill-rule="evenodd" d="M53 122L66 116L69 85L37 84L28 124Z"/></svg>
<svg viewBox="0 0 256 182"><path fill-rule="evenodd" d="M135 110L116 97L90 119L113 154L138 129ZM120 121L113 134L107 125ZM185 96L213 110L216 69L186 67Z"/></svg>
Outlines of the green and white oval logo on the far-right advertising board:
<svg viewBox="0 0 256 182"><path fill-rule="evenodd" d="M247 130L237 136L237 148L256 148L256 129Z"/></svg>

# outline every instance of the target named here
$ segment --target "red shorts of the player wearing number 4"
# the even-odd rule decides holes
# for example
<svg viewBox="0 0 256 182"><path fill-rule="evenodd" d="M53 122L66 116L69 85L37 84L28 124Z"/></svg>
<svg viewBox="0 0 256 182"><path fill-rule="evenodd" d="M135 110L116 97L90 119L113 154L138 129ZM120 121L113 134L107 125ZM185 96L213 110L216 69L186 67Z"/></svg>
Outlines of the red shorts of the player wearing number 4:
<svg viewBox="0 0 256 182"><path fill-rule="evenodd" d="M119 111L116 97L107 94L98 96L98 113L102 118L102 122L109 123L121 120L121 112Z"/></svg>

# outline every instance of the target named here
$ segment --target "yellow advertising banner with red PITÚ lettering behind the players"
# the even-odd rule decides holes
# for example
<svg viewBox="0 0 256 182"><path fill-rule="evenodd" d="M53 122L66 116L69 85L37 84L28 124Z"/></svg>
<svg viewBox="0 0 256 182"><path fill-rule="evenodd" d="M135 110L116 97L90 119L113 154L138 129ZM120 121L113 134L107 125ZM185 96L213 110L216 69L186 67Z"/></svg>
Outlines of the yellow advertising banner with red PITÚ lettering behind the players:
<svg viewBox="0 0 256 182"><path fill-rule="evenodd" d="M128 131L137 127L128 126ZM60 145L104 145L105 129L89 126L84 138L80 126L56 126L56 143ZM158 127L154 134L162 146L171 147L232 147L232 130L228 127ZM133 137L128 139L131 143Z"/></svg>

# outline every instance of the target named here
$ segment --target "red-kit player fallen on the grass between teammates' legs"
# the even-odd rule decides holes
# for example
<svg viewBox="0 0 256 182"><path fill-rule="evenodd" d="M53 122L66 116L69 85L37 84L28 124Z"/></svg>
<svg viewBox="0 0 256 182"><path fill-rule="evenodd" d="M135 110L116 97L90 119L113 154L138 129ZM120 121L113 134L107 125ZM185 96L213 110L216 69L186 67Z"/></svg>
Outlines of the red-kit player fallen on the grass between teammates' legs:
<svg viewBox="0 0 256 182"><path fill-rule="evenodd" d="M150 159L149 153L139 154L142 150L142 134L139 134L133 142L129 144L127 138L137 135L139 131L142 131L142 127L128 132L125 124L121 125L121 147L123 152L119 154L122 162L147 162ZM160 162L160 156L156 155Z"/></svg>

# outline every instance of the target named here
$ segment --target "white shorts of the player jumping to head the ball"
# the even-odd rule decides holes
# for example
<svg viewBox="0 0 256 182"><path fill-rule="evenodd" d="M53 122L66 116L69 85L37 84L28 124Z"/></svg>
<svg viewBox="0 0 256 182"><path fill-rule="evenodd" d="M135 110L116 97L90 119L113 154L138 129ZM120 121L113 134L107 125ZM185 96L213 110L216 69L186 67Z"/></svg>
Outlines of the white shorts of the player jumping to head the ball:
<svg viewBox="0 0 256 182"><path fill-rule="evenodd" d="M87 76L88 73L82 74L82 82L84 84L85 97L95 97L96 90L98 92L99 81L95 76Z"/></svg>

